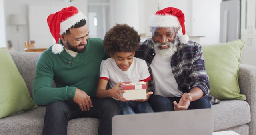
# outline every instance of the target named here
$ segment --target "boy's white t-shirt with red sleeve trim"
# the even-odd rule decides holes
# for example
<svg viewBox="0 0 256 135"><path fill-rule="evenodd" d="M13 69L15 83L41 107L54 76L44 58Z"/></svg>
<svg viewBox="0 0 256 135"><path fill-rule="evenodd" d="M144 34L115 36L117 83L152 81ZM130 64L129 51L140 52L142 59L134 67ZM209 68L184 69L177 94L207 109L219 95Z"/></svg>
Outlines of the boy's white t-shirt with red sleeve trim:
<svg viewBox="0 0 256 135"><path fill-rule="evenodd" d="M113 58L102 60L100 65L100 79L109 81L110 87L113 88L120 81L149 81L151 79L148 72L148 66L145 60L133 57L132 64L127 71L122 71Z"/></svg>

